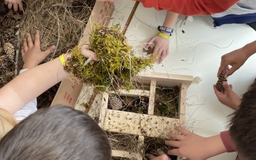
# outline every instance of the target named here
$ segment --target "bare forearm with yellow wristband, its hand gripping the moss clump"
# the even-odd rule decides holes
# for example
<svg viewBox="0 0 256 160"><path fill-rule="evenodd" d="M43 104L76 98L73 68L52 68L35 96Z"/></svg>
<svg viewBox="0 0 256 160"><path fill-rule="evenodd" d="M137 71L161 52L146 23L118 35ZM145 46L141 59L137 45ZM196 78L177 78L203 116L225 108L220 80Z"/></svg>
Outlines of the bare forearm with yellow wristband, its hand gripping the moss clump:
<svg viewBox="0 0 256 160"><path fill-rule="evenodd" d="M40 51L39 43L35 43L35 51ZM82 54L92 58L94 55L86 47L83 47ZM70 54L65 54L65 58L68 56ZM59 58L31 68L0 89L0 107L13 114L66 77L68 77L68 74L61 65Z"/></svg>

